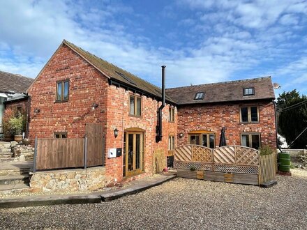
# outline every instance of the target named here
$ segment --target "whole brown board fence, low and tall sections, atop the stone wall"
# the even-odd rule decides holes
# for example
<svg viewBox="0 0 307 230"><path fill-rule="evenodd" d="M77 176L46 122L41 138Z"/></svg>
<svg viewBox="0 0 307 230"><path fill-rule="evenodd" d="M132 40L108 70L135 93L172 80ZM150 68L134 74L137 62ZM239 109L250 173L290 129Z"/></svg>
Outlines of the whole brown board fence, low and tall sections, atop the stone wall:
<svg viewBox="0 0 307 230"><path fill-rule="evenodd" d="M103 125L87 123L85 137L36 138L33 171L104 164Z"/></svg>

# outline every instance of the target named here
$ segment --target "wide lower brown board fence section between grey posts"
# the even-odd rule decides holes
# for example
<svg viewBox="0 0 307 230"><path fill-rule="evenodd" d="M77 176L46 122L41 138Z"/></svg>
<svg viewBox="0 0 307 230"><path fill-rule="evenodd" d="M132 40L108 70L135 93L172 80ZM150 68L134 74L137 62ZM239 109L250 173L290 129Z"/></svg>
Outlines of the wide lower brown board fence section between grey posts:
<svg viewBox="0 0 307 230"><path fill-rule="evenodd" d="M38 139L36 169L84 166L84 139Z"/></svg>

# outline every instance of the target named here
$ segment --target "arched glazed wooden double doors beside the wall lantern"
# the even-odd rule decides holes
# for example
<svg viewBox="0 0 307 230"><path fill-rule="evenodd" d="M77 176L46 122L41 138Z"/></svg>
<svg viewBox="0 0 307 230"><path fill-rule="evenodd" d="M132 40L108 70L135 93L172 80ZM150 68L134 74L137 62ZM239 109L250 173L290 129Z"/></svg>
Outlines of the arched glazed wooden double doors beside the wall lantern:
<svg viewBox="0 0 307 230"><path fill-rule="evenodd" d="M144 171L144 132L124 132L123 177Z"/></svg>

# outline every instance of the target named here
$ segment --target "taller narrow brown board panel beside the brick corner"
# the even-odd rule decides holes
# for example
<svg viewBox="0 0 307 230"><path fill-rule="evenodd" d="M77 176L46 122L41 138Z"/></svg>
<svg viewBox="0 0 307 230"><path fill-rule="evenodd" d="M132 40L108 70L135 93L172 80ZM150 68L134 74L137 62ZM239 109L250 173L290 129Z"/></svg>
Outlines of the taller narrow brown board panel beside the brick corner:
<svg viewBox="0 0 307 230"><path fill-rule="evenodd" d="M85 137L87 137L87 167L103 165L103 125L87 123Z"/></svg>

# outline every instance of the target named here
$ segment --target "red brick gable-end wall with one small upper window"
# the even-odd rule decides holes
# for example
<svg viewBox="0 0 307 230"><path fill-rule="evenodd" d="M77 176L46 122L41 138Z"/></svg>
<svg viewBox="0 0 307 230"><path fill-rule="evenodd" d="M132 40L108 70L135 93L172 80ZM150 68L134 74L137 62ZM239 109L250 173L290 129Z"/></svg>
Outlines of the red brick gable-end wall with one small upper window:
<svg viewBox="0 0 307 230"><path fill-rule="evenodd" d="M69 100L55 102L56 82L64 79L69 79ZM107 86L106 77L63 45L29 89L29 137L52 138L54 132L67 132L68 138L84 137L85 123L101 123L105 128ZM95 110L93 103L98 104Z"/></svg>

